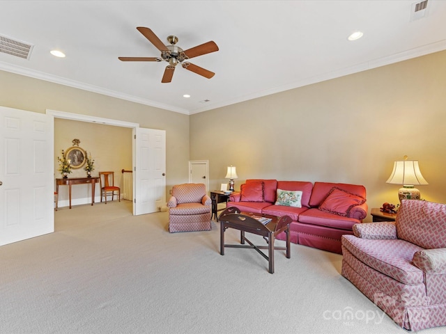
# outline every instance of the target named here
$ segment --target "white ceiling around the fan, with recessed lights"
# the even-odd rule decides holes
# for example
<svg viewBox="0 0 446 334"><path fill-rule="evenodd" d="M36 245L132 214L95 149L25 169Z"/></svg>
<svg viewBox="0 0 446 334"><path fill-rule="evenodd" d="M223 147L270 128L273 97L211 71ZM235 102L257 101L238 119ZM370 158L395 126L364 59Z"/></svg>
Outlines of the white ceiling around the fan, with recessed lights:
<svg viewBox="0 0 446 334"><path fill-rule="evenodd" d="M0 35L34 47L29 60L0 53L0 70L192 114L446 49L446 1L413 19L421 1L3 0ZM137 26L183 49L214 40L220 51L191 63L215 77L177 66L162 84L167 63L119 61L160 56Z"/></svg>

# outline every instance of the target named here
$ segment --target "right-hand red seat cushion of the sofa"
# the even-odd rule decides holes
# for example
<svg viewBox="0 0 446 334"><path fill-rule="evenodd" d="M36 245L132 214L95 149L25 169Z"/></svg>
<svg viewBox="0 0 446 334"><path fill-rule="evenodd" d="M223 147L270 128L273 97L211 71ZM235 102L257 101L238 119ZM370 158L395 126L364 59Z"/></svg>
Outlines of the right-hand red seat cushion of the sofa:
<svg viewBox="0 0 446 334"><path fill-rule="evenodd" d="M305 210L299 215L300 223L307 223L312 225L321 225L329 228L337 228L341 230L352 230L353 225L360 223L355 218L343 217L337 214L330 214L323 212L316 207Z"/></svg>

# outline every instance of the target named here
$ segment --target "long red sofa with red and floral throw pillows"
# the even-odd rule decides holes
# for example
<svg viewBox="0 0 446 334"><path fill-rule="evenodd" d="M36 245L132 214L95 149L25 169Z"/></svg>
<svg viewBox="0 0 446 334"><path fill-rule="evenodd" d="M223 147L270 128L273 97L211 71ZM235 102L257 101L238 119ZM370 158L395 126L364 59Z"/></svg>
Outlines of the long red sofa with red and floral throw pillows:
<svg viewBox="0 0 446 334"><path fill-rule="evenodd" d="M289 198L294 199L292 206ZM341 254L341 236L353 234L353 225L367 216L365 201L366 189L356 184L251 179L229 196L226 207L288 215L291 242ZM286 235L277 239L285 240Z"/></svg>

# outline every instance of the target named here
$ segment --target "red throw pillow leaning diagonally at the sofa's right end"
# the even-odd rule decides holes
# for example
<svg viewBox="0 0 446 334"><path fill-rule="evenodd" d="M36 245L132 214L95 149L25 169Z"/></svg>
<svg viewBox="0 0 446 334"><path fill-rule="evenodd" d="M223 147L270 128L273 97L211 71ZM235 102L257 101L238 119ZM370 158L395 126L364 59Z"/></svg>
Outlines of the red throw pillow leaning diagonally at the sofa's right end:
<svg viewBox="0 0 446 334"><path fill-rule="evenodd" d="M319 205L319 209L324 212L330 212L330 214L346 217L350 214L352 207L362 205L364 202L365 198L361 196L333 187L327 197L325 197L325 200Z"/></svg>

